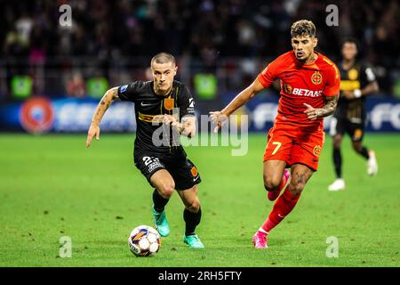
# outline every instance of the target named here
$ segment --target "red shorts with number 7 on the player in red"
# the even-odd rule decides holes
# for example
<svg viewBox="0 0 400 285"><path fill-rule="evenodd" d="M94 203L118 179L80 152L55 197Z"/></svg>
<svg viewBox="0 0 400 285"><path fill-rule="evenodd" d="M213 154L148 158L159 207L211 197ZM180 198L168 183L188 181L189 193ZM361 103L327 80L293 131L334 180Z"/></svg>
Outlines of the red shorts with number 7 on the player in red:
<svg viewBox="0 0 400 285"><path fill-rule="evenodd" d="M300 163L316 171L324 141L322 126L310 128L276 122L268 132L264 161L284 160L287 167Z"/></svg>

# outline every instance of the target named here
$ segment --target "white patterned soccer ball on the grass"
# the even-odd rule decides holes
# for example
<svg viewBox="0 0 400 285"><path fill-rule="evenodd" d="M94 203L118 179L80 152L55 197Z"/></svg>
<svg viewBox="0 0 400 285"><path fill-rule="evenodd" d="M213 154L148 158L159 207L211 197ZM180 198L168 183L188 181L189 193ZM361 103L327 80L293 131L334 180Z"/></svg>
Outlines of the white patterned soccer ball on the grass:
<svg viewBox="0 0 400 285"><path fill-rule="evenodd" d="M160 249L161 237L151 226L140 225L132 230L128 246L135 256L154 256Z"/></svg>

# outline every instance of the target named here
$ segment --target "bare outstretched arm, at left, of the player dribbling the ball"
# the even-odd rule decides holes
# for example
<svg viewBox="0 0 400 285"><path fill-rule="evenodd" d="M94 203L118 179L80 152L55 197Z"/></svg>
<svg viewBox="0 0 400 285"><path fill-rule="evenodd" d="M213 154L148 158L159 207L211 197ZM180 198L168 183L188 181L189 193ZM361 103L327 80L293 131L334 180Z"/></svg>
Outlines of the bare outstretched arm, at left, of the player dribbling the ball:
<svg viewBox="0 0 400 285"><path fill-rule="evenodd" d="M96 137L96 140L100 139L100 121L103 118L104 113L108 110L109 106L118 98L118 87L109 89L106 94L104 94L103 98L101 98L99 105L97 106L96 111L94 112L91 126L87 132L86 139L86 147L90 147L92 143L93 137Z"/></svg>

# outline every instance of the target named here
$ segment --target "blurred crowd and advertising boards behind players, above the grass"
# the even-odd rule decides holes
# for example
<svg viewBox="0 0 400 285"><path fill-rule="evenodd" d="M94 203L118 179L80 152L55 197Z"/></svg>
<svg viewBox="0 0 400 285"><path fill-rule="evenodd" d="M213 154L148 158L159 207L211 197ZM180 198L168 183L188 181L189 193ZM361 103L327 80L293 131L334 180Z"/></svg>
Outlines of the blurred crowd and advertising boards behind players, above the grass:
<svg viewBox="0 0 400 285"><path fill-rule="evenodd" d="M71 7L71 26L59 24L62 4ZM328 4L338 5L337 27L325 23ZM0 128L84 132L105 91L150 78L149 59L160 51L177 57L177 79L191 86L200 113L220 109L291 48L292 22L307 18L316 23L318 50L336 61L341 39L356 37L380 85L368 103L368 130L398 131L399 9L396 0L5 1ZM269 89L244 110L254 115L252 131L271 125L278 92ZM131 108L114 107L103 131L134 131Z"/></svg>

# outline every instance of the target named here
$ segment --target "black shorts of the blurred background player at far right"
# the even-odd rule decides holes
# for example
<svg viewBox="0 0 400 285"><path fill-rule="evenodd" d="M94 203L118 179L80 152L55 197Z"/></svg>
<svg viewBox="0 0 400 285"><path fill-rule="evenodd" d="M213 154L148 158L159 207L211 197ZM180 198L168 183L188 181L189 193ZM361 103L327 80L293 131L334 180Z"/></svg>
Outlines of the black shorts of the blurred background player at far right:
<svg viewBox="0 0 400 285"><path fill-rule="evenodd" d="M364 138L364 119L360 119L359 123L353 123L348 118L333 117L331 120L330 134L345 134L347 133L353 142L362 142Z"/></svg>

